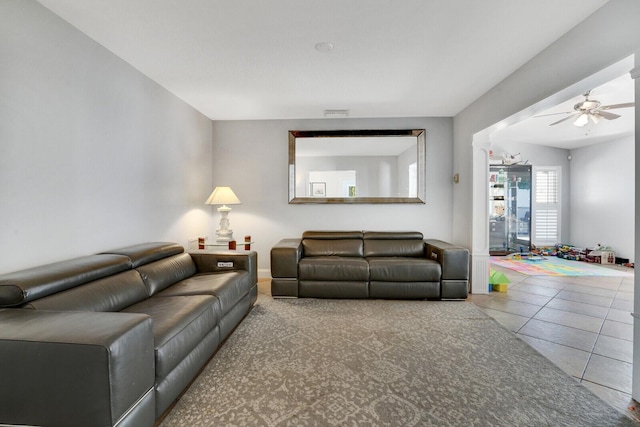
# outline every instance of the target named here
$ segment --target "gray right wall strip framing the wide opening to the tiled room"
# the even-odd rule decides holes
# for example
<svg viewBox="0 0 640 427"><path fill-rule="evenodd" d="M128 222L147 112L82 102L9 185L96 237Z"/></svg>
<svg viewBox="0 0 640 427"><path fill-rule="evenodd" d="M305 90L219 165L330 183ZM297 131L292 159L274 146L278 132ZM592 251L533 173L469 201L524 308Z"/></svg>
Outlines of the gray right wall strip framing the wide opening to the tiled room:
<svg viewBox="0 0 640 427"><path fill-rule="evenodd" d="M453 195L455 242L472 244L474 135L498 123L508 125L533 115L527 109L541 101L548 101L547 107L556 105L553 94L640 51L638 16L637 0L609 1L454 118L454 172L460 173ZM585 43L584 34L593 28L607 30L599 33L597 41ZM586 89L578 87L571 96Z"/></svg>

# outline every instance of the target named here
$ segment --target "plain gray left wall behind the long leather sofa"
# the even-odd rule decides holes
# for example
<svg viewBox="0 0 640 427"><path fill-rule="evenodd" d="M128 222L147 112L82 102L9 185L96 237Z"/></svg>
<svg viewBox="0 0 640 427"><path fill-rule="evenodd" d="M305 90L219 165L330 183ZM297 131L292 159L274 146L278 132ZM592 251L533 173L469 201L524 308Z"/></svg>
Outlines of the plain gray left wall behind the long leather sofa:
<svg viewBox="0 0 640 427"><path fill-rule="evenodd" d="M0 272L208 226L209 119L35 1L0 58Z"/></svg>

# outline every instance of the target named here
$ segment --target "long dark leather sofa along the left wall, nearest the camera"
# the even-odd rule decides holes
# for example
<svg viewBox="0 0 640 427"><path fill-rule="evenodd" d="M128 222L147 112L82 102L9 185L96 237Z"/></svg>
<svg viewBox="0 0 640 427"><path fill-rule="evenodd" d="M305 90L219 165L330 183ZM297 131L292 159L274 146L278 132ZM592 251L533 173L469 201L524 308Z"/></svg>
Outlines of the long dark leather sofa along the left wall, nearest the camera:
<svg viewBox="0 0 640 427"><path fill-rule="evenodd" d="M146 243L0 276L0 424L153 426L257 298L255 252Z"/></svg>

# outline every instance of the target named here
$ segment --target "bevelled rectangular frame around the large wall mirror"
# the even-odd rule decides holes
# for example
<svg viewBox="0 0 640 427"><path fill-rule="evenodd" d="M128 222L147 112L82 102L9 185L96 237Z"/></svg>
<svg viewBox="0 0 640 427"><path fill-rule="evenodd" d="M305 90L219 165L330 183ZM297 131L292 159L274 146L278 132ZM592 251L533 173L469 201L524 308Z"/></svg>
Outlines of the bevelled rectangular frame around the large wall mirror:
<svg viewBox="0 0 640 427"><path fill-rule="evenodd" d="M289 131L289 203L290 204L363 204L363 203L425 203L426 187L425 129L365 129L365 130L290 130ZM296 139L415 136L417 145L417 197L296 197Z"/></svg>

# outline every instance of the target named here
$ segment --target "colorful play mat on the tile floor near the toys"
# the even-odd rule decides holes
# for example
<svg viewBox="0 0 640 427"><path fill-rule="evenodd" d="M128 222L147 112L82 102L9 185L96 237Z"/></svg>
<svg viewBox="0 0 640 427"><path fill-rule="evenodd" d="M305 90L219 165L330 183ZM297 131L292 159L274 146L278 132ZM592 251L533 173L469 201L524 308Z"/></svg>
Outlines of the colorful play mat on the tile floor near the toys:
<svg viewBox="0 0 640 427"><path fill-rule="evenodd" d="M633 276L633 273L628 271L558 257L546 257L535 261L491 257L490 262L528 276Z"/></svg>

